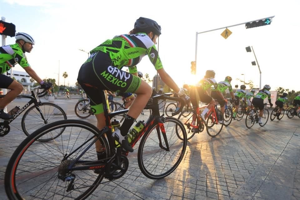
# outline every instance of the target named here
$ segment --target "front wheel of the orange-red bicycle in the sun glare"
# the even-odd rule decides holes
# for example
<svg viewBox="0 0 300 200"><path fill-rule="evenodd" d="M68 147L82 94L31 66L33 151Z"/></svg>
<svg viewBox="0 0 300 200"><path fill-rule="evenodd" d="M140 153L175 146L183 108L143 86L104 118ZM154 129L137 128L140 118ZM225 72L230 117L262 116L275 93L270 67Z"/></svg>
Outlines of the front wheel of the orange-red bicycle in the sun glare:
<svg viewBox="0 0 300 200"><path fill-rule="evenodd" d="M210 137L216 137L217 135L219 135L221 133L223 125L224 125L223 123L219 123L219 121L221 120L221 117L223 117L222 112L217 109L216 110L216 115L217 116L215 116L215 114L213 112L211 112L207 116L206 132ZM217 117L217 120L216 120L216 117ZM218 121L218 123L216 123L216 121ZM216 128L216 129L213 130L213 128Z"/></svg>

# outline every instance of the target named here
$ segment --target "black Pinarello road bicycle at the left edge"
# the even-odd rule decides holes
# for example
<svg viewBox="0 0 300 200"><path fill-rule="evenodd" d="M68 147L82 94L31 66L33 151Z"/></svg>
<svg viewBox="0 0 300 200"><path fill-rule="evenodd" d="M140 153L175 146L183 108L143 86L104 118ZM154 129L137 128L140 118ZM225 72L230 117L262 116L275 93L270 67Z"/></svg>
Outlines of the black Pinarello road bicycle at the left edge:
<svg viewBox="0 0 300 200"><path fill-rule="evenodd" d="M10 131L9 124L16 119L21 113L23 113L27 108L27 111L24 113L22 120L21 120L21 126L22 130L25 133L25 135L30 135L34 131L36 131L38 128L41 128L42 126L45 126L48 123L60 121L63 119L67 119L67 115L64 112L63 108L59 107L58 105L54 103L42 103L38 98L43 97L47 94L47 90L43 90L42 92L39 92L40 86L31 88L31 96L27 95L18 95L18 98L29 98L30 101L26 103L17 113L13 114L13 118L9 120L4 120L3 122L0 122L0 137L5 136ZM34 90L37 89L37 95L34 93ZM4 97L5 95L0 95L1 97ZM37 98L38 97L38 98ZM31 104L34 104L32 107L29 108ZM42 138L39 138L39 141L49 141L54 138L57 138L62 131L56 132L56 133L49 133L45 134Z"/></svg>

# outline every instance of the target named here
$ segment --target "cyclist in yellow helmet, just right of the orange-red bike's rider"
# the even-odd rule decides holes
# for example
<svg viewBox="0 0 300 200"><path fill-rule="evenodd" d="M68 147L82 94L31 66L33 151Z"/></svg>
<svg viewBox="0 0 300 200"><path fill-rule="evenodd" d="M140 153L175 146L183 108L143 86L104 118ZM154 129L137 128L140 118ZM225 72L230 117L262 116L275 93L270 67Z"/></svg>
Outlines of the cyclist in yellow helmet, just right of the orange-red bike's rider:
<svg viewBox="0 0 300 200"><path fill-rule="evenodd" d="M232 91L231 86L232 78L230 76L225 77L224 81L218 83L218 89L213 88L212 92L210 93L211 97L217 99L218 103L221 107L221 112L224 114L225 112L225 104L227 104L227 99L224 98L223 94L225 90L228 88L231 97L234 99L234 93Z"/></svg>

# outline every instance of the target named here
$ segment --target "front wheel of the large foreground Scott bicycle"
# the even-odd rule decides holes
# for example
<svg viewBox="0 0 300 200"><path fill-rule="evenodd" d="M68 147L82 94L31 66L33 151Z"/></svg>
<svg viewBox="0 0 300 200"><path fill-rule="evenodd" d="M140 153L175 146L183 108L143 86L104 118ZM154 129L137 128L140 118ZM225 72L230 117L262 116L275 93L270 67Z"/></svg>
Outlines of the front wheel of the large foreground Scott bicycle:
<svg viewBox="0 0 300 200"><path fill-rule="evenodd" d="M166 132L167 141L162 130ZM144 134L138 147L138 166L148 178L164 178L178 167L186 147L187 136L182 123L176 118L166 117L163 124L151 125Z"/></svg>

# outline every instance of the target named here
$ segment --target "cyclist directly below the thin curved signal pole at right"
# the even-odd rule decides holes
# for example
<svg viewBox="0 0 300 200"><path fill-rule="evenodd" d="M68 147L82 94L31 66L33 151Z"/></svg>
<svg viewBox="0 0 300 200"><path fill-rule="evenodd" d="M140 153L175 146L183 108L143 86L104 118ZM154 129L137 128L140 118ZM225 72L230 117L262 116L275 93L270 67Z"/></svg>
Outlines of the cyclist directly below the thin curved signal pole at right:
<svg viewBox="0 0 300 200"><path fill-rule="evenodd" d="M272 107L273 104L271 103L271 93L270 90L271 87L269 85L264 85L262 90L259 90L258 93L255 95L255 97L252 99L252 104L255 107L258 107L259 109L259 120L258 123L262 124L262 115L263 115L263 100L265 98L268 98L268 101L270 103L270 106Z"/></svg>

